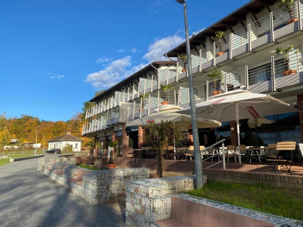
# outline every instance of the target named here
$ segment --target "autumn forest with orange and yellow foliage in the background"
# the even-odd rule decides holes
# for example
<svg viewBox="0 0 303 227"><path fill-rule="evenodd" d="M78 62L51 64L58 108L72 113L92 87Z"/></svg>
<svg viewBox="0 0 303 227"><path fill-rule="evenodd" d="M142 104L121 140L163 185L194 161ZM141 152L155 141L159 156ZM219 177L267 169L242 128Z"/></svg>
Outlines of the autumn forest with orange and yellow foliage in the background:
<svg viewBox="0 0 303 227"><path fill-rule="evenodd" d="M105 90L96 91L98 96ZM11 139L20 140L21 143L35 143L36 130L38 129L37 143L43 145L43 135L46 141L54 137L71 132L75 137L84 140L83 145L90 140L88 137L82 137L82 126L87 122L85 119L86 110L95 105L95 103L83 103L82 112L75 112L71 119L67 121L46 121L38 117L23 114L19 117L7 116L6 113L0 114L0 144L9 144Z"/></svg>

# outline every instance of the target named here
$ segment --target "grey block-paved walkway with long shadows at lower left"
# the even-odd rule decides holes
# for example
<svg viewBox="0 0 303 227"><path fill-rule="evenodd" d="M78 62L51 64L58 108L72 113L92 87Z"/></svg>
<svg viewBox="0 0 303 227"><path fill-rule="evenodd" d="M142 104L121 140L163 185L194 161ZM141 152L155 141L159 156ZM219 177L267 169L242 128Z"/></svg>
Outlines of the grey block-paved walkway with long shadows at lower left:
<svg viewBox="0 0 303 227"><path fill-rule="evenodd" d="M37 171L37 163L0 166L0 226L125 226L122 213L76 196Z"/></svg>

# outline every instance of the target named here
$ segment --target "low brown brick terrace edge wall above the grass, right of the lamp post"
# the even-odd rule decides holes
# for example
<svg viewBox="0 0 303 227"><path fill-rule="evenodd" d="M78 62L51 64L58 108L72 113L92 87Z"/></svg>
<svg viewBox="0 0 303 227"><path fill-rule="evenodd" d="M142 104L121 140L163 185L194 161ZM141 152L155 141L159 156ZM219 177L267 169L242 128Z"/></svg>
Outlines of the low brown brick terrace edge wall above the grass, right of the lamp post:
<svg viewBox="0 0 303 227"><path fill-rule="evenodd" d="M203 169L208 181L239 183L263 183L278 187L303 189L303 176L279 175L274 173L243 172L223 169Z"/></svg>

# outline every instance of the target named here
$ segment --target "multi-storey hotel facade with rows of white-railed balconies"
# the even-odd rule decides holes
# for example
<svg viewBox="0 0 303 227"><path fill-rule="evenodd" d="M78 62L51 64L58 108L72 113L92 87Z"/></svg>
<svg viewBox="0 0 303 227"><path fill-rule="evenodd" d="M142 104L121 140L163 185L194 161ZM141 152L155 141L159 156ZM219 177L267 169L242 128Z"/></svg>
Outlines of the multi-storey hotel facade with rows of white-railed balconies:
<svg viewBox="0 0 303 227"><path fill-rule="evenodd" d="M303 110L303 1L277 7L280 1L253 0L190 39L196 103L235 89L270 94ZM224 31L223 38L214 38ZM275 53L276 48L282 47ZM284 52L283 52L284 51ZM82 133L104 143L117 139L116 156L127 157L129 147L142 146L144 129L128 129L125 123L155 113L161 106L189 106L188 76L182 55L185 43L165 54L176 61L153 62L124 81L93 98ZM222 72L211 78L212 71ZM164 92L161 85L171 84ZM140 95L141 94L141 95ZM145 94L145 95L144 95ZM143 95L143 96L142 96ZM128 132L128 133L127 133ZM303 141L303 114L288 113L240 120L241 143L266 146L279 141ZM219 128L199 129L201 145L222 138L237 144L235 121ZM103 154L106 147L98 148ZM286 154L302 160L299 151Z"/></svg>

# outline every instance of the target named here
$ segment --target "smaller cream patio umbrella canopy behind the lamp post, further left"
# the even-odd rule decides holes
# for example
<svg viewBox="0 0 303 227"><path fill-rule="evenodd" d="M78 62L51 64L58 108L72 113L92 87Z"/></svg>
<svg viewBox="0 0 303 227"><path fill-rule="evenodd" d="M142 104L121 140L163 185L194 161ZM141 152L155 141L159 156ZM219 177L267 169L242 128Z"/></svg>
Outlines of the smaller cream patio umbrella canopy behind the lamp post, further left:
<svg viewBox="0 0 303 227"><path fill-rule="evenodd" d="M147 126L149 122L160 123L161 120L167 121L171 120L175 122L176 125L184 128L191 129L191 116L172 113L175 110L180 110L180 107L173 107L165 110L159 110L157 113L153 113L151 115L147 115L144 117L137 118L135 120L131 120L126 122L127 126ZM205 118L197 118L198 128L211 128L221 126L221 123L215 120L205 119Z"/></svg>

